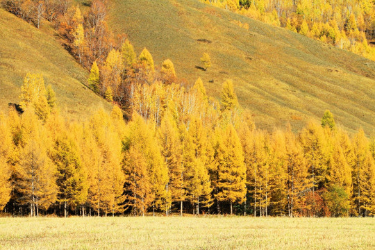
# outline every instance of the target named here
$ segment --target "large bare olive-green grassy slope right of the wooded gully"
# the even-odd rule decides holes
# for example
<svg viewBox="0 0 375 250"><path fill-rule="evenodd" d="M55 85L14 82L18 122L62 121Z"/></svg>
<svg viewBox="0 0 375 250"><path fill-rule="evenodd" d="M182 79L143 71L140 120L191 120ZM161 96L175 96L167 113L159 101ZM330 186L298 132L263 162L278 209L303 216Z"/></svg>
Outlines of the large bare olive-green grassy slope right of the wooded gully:
<svg viewBox="0 0 375 250"><path fill-rule="evenodd" d="M156 64L169 58L178 76L200 76L216 97L233 79L258 127L301 128L329 109L351 132L374 130L375 63L348 51L197 0L113 0L110 26L138 53L147 47ZM196 67L203 52L213 61L207 72Z"/></svg>

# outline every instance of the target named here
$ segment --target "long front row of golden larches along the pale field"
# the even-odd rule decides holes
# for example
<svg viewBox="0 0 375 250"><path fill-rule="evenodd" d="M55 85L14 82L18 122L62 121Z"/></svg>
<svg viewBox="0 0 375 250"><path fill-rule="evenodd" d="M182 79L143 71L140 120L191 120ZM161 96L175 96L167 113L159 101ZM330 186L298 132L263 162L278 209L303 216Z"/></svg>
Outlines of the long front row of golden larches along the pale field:
<svg viewBox="0 0 375 250"><path fill-rule="evenodd" d="M220 102L192 88L133 85L131 119L114 106L87 122L58 114L28 74L22 109L0 115L0 208L14 215L235 213L373 216L375 141L329 111L298 134L257 129L231 81Z"/></svg>

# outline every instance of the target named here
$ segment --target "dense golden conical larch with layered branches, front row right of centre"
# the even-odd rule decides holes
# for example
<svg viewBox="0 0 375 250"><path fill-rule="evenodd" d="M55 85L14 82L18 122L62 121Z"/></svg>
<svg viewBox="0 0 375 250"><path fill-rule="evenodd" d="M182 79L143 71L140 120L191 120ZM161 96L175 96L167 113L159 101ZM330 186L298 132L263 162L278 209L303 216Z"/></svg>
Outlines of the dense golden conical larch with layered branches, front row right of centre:
<svg viewBox="0 0 375 250"><path fill-rule="evenodd" d="M216 194L218 201L230 203L231 214L233 214L233 203L244 202L246 194L246 169L244 167L244 156L240 139L230 124L226 129L224 147L219 154L222 159L218 165Z"/></svg>

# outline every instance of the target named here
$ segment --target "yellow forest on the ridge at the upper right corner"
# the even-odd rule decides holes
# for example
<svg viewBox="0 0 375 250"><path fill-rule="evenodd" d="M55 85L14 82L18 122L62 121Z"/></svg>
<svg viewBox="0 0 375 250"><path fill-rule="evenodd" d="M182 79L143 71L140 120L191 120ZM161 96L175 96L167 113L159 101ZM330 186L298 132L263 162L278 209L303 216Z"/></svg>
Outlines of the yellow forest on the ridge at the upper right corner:
<svg viewBox="0 0 375 250"><path fill-rule="evenodd" d="M372 0L201 0L375 60Z"/></svg>

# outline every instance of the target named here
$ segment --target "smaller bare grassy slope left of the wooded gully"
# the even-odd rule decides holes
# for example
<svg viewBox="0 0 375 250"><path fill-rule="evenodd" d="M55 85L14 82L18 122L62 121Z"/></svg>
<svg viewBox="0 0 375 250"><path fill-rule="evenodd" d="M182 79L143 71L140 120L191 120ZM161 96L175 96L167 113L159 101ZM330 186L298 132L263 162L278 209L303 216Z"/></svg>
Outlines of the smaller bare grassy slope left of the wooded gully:
<svg viewBox="0 0 375 250"><path fill-rule="evenodd" d="M40 73L46 85L56 91L63 114L80 119L110 104L88 90L83 83L88 72L53 38L53 29L39 31L18 17L0 9L0 110L19 103L20 86L28 72Z"/></svg>

